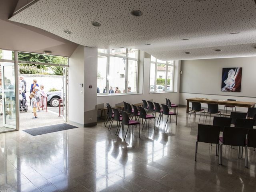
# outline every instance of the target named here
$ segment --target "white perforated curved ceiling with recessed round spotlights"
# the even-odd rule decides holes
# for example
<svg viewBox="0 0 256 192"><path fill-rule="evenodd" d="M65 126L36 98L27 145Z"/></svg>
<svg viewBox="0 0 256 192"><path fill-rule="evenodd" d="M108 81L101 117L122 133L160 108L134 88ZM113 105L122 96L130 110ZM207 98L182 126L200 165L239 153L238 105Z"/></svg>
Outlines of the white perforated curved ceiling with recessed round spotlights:
<svg viewBox="0 0 256 192"><path fill-rule="evenodd" d="M10 20L84 46L138 48L162 60L256 55L254 0L39 0Z"/></svg>

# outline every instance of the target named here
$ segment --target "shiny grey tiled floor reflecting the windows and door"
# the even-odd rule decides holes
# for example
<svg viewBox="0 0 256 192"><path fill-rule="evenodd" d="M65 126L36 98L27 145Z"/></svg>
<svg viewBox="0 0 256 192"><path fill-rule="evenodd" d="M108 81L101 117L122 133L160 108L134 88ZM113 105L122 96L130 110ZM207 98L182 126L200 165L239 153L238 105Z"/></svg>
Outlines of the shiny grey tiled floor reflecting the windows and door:
<svg viewBox="0 0 256 192"><path fill-rule="evenodd" d="M165 120L165 119L164 119ZM178 125L144 129L126 142L99 123L40 136L23 131L0 134L1 192L254 192L256 151L249 150L249 168L237 159L237 148L223 148L218 165L215 146L198 144L199 116L179 109ZM203 123L202 120L200 123ZM126 127L125 127L126 131ZM131 131L132 133L132 131Z"/></svg>

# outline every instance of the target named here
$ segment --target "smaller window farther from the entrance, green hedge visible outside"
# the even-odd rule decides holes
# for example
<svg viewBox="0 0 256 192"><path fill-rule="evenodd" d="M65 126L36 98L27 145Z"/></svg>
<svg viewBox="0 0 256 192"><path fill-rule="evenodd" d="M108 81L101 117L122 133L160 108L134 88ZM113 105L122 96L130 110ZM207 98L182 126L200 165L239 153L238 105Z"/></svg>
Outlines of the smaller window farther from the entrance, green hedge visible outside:
<svg viewBox="0 0 256 192"><path fill-rule="evenodd" d="M151 56L149 92L173 91L173 61L162 61Z"/></svg>

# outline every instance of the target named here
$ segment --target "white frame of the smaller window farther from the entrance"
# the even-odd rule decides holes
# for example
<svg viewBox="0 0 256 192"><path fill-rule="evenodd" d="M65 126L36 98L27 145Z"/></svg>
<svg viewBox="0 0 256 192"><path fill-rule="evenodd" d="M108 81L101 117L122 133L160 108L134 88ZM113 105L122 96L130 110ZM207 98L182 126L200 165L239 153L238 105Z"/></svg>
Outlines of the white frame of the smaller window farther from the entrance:
<svg viewBox="0 0 256 192"><path fill-rule="evenodd" d="M153 56L151 56L153 57ZM152 61L151 58L150 58L150 72L151 72L151 66L152 64L154 64L155 66L155 76L154 76L154 85L150 85L149 84L149 89L148 89L148 92L149 94L152 94L152 93L166 93L166 92L174 92L173 91L173 78L174 78L174 60L172 60L172 64L168 64L169 61L166 61L166 62L158 62L158 59L156 58L156 61ZM164 85L164 91L161 91L161 92L158 92L156 91L157 90L157 87L156 87L156 82L157 82L157 65L158 64L164 64L165 67L166 67L166 70L165 70L165 85ZM168 66L172 66L172 84L170 84L169 86L172 85L172 89L170 90L167 90L167 80L168 80ZM149 75L149 82L150 82L150 75ZM150 91L150 86L154 86L154 91ZM162 86L162 85L161 85Z"/></svg>

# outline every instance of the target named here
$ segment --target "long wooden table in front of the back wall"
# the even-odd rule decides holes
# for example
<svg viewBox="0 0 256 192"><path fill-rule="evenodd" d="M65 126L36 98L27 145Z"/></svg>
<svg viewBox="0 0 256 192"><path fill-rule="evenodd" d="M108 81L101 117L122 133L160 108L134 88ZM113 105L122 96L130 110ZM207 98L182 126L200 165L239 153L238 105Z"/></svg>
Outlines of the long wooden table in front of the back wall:
<svg viewBox="0 0 256 192"><path fill-rule="evenodd" d="M236 107L254 107L256 103L252 102L243 102L243 101L227 101L227 100L218 100L218 99L207 99L207 98L189 98L187 100L187 113L189 112L189 102L200 102L200 103L209 103L209 104L218 104L218 105L232 105Z"/></svg>

